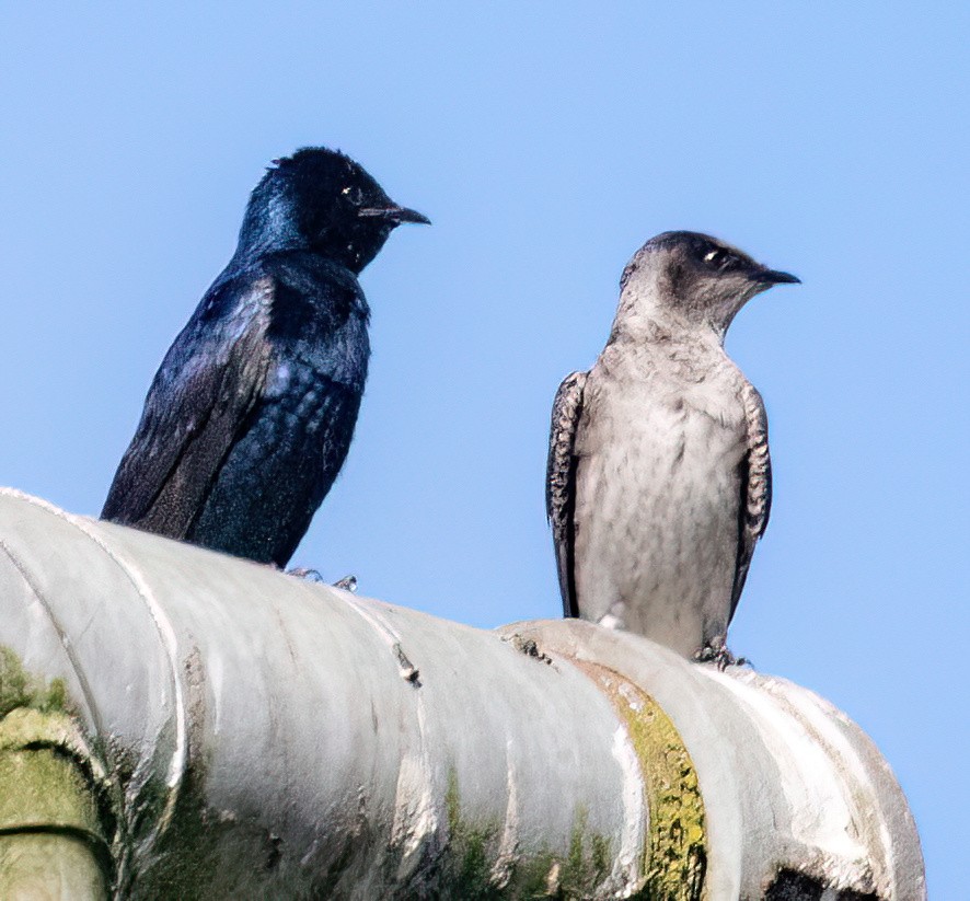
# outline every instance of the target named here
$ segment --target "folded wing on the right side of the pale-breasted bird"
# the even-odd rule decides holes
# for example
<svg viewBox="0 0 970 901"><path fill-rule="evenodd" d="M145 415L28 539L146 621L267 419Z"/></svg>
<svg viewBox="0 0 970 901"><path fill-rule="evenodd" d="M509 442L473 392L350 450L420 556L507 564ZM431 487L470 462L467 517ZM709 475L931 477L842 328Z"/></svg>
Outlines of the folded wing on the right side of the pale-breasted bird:
<svg viewBox="0 0 970 901"><path fill-rule="evenodd" d="M731 613L738 608L754 545L767 528L771 513L771 455L767 450L767 415L758 390L747 384L742 394L748 424L748 452L740 464L741 498L738 513L738 558L731 590Z"/></svg>

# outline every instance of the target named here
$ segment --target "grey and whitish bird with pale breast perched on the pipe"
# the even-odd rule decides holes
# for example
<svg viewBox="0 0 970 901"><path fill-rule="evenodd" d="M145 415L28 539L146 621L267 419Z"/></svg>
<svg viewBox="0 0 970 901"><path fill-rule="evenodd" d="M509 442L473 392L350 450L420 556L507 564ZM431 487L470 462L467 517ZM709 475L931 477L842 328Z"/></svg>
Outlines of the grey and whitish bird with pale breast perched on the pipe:
<svg viewBox="0 0 970 901"><path fill-rule="evenodd" d="M754 294L798 282L696 232L650 239L592 369L553 404L546 511L567 616L721 666L767 524L761 395L724 349Z"/></svg>

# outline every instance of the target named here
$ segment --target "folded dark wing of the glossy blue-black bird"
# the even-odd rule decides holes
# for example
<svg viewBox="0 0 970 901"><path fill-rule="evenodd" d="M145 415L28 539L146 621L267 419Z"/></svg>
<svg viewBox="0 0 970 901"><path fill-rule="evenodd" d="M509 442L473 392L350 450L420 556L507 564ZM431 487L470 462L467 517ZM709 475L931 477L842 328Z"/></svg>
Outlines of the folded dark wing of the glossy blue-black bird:
<svg viewBox="0 0 970 901"><path fill-rule="evenodd" d="M259 400L275 282L213 287L162 362L102 518L184 538Z"/></svg>

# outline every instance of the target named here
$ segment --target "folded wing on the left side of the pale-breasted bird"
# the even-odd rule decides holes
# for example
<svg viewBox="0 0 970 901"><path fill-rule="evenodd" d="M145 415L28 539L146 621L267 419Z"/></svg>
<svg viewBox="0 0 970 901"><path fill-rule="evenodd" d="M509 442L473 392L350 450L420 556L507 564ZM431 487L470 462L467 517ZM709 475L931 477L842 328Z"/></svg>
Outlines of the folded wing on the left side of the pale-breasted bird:
<svg viewBox="0 0 970 901"><path fill-rule="evenodd" d="M578 616L576 574L574 570L573 513L576 509L576 428L582 415L582 391L588 372L567 376L553 401L552 426L548 436L548 462L545 481L545 511L553 528L556 568L563 612Z"/></svg>

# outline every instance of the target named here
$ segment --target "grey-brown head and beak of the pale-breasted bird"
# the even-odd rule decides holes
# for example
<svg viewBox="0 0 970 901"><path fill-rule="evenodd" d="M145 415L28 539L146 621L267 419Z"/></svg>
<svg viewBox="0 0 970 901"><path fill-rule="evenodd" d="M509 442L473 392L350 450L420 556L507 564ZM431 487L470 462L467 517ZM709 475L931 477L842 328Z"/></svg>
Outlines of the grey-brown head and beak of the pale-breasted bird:
<svg viewBox="0 0 970 901"><path fill-rule="evenodd" d="M706 324L721 337L737 312L773 285L799 279L770 269L716 238L668 231L651 238L623 270L620 289L628 307L640 303Z"/></svg>

